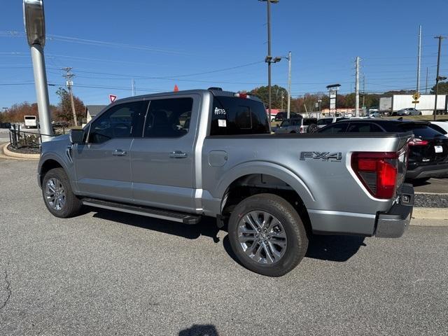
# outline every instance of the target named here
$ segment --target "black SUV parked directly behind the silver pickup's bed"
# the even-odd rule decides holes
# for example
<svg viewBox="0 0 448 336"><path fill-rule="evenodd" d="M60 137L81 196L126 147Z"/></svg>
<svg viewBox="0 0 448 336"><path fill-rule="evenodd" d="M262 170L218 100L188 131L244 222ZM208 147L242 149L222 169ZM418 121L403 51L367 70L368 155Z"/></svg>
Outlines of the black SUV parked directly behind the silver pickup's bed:
<svg viewBox="0 0 448 336"><path fill-rule="evenodd" d="M342 120L328 125L319 133L412 132L406 177L426 180L448 175L448 138L426 121L412 120Z"/></svg>

